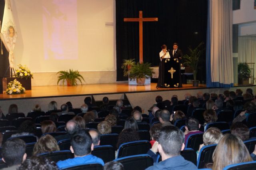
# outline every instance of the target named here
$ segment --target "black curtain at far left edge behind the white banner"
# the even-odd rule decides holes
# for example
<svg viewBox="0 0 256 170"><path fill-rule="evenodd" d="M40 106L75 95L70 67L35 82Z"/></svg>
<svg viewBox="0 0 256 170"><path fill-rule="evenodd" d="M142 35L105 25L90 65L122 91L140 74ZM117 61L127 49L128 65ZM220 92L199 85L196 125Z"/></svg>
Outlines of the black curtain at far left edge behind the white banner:
<svg viewBox="0 0 256 170"><path fill-rule="evenodd" d="M1 20L1 26L2 26L2 21L3 21L3 16L4 16L4 4L5 4L4 0L0 0L0 20ZM9 59L8 59L9 53L6 50L6 48L4 47L3 43L2 43L2 47L3 47L3 55L0 52L0 77L4 77L4 73L6 73L5 76L8 77L8 76L10 76L10 71L8 69L8 66L9 66ZM8 69L8 71L6 71L6 69ZM0 81L2 81L2 79Z"/></svg>

